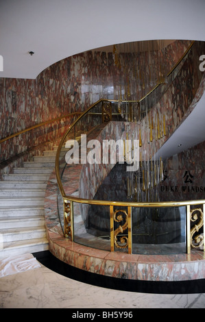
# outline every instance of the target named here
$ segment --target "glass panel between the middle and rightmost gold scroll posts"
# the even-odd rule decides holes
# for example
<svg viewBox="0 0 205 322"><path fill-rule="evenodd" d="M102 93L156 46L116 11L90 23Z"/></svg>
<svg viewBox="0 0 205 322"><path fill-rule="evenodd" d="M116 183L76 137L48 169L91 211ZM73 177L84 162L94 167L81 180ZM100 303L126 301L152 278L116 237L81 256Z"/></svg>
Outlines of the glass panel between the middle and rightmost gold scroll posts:
<svg viewBox="0 0 205 322"><path fill-rule="evenodd" d="M132 253L186 253L186 207L132 207Z"/></svg>

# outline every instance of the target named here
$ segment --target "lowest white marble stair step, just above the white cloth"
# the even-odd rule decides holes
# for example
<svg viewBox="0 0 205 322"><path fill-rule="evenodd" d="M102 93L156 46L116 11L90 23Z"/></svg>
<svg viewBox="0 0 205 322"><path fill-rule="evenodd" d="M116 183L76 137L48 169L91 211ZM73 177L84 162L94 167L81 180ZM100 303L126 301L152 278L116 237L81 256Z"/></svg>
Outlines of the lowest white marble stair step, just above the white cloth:
<svg viewBox="0 0 205 322"><path fill-rule="evenodd" d="M49 249L47 238L19 240L14 243L0 243L0 258L20 255L23 253L36 253Z"/></svg>

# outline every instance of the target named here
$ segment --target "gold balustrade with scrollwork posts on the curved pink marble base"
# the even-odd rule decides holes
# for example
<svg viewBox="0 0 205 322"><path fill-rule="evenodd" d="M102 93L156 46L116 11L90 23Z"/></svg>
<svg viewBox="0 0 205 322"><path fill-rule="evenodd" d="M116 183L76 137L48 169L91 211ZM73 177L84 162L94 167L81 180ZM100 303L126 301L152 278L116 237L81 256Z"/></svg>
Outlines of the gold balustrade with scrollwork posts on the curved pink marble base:
<svg viewBox="0 0 205 322"><path fill-rule="evenodd" d="M186 253L191 252L191 248L204 249L204 236L199 234L200 228L204 226L205 200L181 201L181 202L158 202L158 203L125 203L117 201L101 201L64 197L64 235L71 238L75 234L73 230L73 203L86 203L110 208L110 250L125 249L132 253L132 209L137 208L170 208L186 206ZM202 206L202 208L200 208ZM114 208L117 207L117 210ZM119 209L123 208L123 209ZM126 208L126 210L125 210ZM119 223L114 229L114 223ZM194 223L191 227L191 223ZM123 234L125 231L126 234Z"/></svg>

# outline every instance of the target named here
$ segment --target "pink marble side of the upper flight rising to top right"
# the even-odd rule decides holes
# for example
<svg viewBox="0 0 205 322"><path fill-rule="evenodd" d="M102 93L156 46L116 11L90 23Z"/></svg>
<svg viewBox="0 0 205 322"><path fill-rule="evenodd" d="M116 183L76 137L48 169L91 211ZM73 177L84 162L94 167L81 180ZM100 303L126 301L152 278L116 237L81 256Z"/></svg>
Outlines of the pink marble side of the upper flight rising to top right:
<svg viewBox="0 0 205 322"><path fill-rule="evenodd" d="M154 153L162 147L202 97L205 88L205 75L199 69L199 58L204 51L205 43L195 42L188 58L184 60L182 68L178 71L173 82L169 84L165 94L162 95L156 106L141 121L141 125L138 127L138 138L139 129L141 129L143 160L147 160L145 151L146 156L154 156ZM160 139L158 139L158 132L155 132L158 123L157 115L159 115L160 121L165 116L166 123L167 135L160 136ZM152 143L149 140L149 119L153 119L154 123Z"/></svg>

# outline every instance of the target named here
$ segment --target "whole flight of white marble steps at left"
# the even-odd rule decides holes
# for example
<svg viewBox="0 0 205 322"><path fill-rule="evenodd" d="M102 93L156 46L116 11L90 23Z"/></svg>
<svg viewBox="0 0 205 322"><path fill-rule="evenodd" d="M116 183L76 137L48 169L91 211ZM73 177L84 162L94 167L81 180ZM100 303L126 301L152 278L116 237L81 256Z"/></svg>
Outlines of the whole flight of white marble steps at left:
<svg viewBox="0 0 205 322"><path fill-rule="evenodd" d="M44 197L56 150L34 156L0 182L0 258L49 249Z"/></svg>

